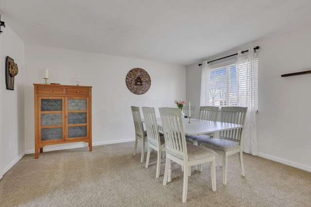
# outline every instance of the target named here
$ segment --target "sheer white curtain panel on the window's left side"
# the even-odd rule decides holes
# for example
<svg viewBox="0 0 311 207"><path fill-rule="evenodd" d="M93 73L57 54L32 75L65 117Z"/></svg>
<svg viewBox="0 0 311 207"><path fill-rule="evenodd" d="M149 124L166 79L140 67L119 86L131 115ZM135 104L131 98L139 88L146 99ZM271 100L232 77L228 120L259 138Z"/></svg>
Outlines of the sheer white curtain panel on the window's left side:
<svg viewBox="0 0 311 207"><path fill-rule="evenodd" d="M207 61L204 61L202 63L200 106L209 105L209 72L210 65L207 64Z"/></svg>

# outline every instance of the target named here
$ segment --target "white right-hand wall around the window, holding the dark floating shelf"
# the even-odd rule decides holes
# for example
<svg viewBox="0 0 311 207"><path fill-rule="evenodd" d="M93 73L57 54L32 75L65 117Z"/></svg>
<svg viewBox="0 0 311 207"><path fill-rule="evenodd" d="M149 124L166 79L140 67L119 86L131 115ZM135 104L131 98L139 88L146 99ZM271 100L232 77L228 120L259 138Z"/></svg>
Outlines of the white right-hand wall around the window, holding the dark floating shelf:
<svg viewBox="0 0 311 207"><path fill-rule="evenodd" d="M259 46L259 156L311 172L311 75L281 77L311 70L311 25L242 46L214 60ZM199 63L186 67L187 99L200 106ZM198 114L198 110L196 111Z"/></svg>

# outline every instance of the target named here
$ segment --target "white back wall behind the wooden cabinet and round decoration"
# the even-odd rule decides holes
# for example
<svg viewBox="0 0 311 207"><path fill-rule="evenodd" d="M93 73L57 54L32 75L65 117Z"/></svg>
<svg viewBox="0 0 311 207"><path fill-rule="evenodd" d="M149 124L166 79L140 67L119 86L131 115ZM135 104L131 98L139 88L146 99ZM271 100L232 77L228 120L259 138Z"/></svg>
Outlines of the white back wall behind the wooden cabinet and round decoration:
<svg viewBox="0 0 311 207"><path fill-rule="evenodd" d="M93 145L135 140L131 105L176 107L174 100L186 97L185 66L25 44L26 154L35 152L33 83L44 82L45 67L49 68L49 82L72 85L74 76L80 75L80 85L93 86ZM151 77L151 87L143 95L132 94L125 84L127 73L136 67ZM86 144L48 145L43 150L79 146Z"/></svg>

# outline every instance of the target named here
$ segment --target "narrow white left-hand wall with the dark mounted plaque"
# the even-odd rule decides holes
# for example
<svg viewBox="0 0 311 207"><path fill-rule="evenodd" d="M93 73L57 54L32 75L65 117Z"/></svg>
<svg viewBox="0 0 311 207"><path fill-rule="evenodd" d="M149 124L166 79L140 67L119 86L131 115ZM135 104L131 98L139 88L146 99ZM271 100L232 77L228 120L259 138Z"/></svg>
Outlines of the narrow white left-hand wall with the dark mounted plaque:
<svg viewBox="0 0 311 207"><path fill-rule="evenodd" d="M1 19L4 21L3 19ZM0 34L0 178L24 155L24 42L9 25ZM6 56L17 63L14 90L6 90Z"/></svg>

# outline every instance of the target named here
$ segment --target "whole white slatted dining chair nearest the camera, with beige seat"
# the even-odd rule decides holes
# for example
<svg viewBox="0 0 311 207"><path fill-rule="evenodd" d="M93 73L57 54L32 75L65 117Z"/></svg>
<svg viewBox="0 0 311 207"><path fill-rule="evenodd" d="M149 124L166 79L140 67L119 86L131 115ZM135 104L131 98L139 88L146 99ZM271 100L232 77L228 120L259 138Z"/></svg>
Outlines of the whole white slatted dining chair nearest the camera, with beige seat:
<svg viewBox="0 0 311 207"><path fill-rule="evenodd" d="M184 167L183 197L187 201L188 173L192 165L210 162L212 191L216 191L216 153L212 150L186 143L181 110L176 108L160 108L161 122L166 147L166 163L163 185L166 185L171 174L171 160ZM202 189L204 191L204 189Z"/></svg>

